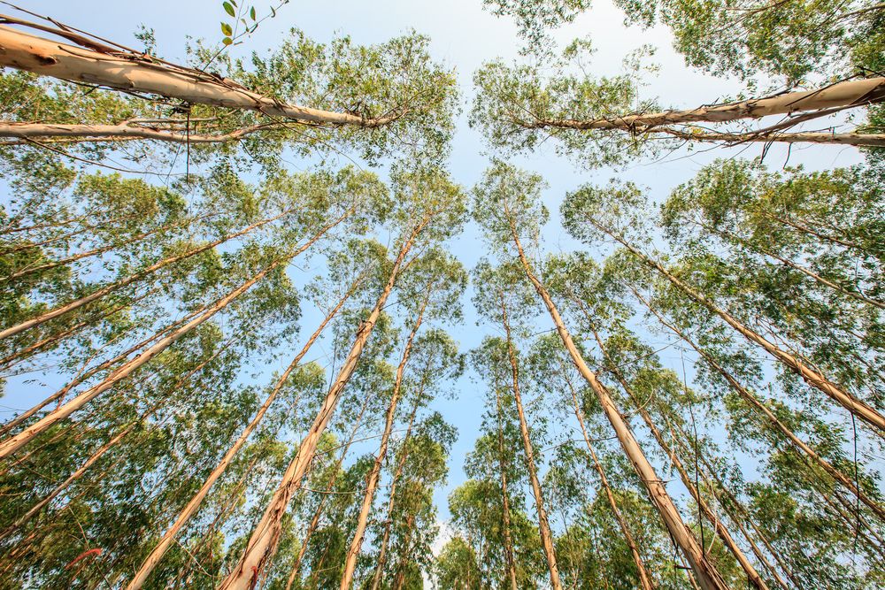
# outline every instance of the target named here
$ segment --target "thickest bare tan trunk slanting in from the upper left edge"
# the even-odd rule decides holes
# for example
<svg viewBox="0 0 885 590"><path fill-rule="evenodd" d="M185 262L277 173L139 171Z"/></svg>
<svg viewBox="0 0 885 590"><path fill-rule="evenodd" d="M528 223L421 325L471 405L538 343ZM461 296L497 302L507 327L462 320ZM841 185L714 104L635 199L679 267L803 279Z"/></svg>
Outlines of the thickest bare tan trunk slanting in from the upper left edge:
<svg viewBox="0 0 885 590"><path fill-rule="evenodd" d="M104 52L0 27L0 65L81 84L174 98L191 104L258 111L267 117L325 125L383 126L399 115L366 119L286 104L233 80L172 65L135 52Z"/></svg>

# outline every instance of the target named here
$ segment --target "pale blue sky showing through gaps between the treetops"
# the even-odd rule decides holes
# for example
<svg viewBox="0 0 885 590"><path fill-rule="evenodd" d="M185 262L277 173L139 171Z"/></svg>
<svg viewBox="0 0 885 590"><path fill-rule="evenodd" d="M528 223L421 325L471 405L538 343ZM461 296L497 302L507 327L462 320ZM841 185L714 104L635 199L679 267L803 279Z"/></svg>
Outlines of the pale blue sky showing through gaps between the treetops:
<svg viewBox="0 0 885 590"><path fill-rule="evenodd" d="M259 14L267 11L270 3L254 0ZM274 4L276 2L274 1ZM132 34L140 24L153 28L157 37L158 52L166 59L183 61L186 37L218 40L219 20L223 12L220 0L153 0L150 3L76 0L34 0L27 8L50 15L67 24L81 27L124 44L134 42ZM4 11L8 11L4 10ZM734 96L741 87L734 80L712 78L687 68L681 56L671 48L666 29L641 31L625 28L618 9L605 0L596 0L592 11L582 15L569 27L558 31L558 42L565 44L578 36L592 39L596 48L593 63L595 73L613 74L620 70L620 63L628 51L643 43L657 46L655 61L661 65L658 75L645 88L646 96L656 96L662 104L673 107L695 107L702 103L716 102L721 96ZM469 101L473 96L471 78L484 61L495 57L517 58L519 43L515 27L510 19L497 19L482 10L481 0L447 0L427 2L421 0L337 0L335 3L300 2L293 0L281 8L275 19L266 20L258 32L240 48L235 55L259 52L273 47L289 27L303 29L317 41L327 41L336 32L350 34L355 42L382 42L408 29L427 34L432 43L433 56L454 68L458 74L463 93L464 109L458 121L450 172L455 180L469 188L479 180L489 162L489 155L480 134L466 123ZM566 191L588 181L603 182L616 173L625 180L648 186L650 195L663 198L671 188L691 178L694 173L714 157L758 156L760 144L743 149L712 149L688 153L685 151L666 158L663 162L637 162L626 170L582 171L572 163L557 157L552 150L520 157L516 164L539 172L548 181L549 188L544 200L550 209L551 221L544 234L545 245L550 249L569 248L557 217L559 203ZM780 146L770 150L766 161L779 167L786 161L787 151ZM839 147L794 147L790 154L791 165L804 164L812 169L850 165L858 161L853 149ZM481 257L483 245L473 226L452 244L452 251L467 268ZM489 329L475 326L475 314L465 299L466 321L456 333L462 348L475 347ZM304 331L312 330L310 312L305 312ZM545 318L543 318L545 319ZM548 327L546 324L543 327ZM674 353L676 354L676 353ZM313 356L313 355L311 355ZM664 357L673 368L679 363L675 357ZM282 361L281 361L282 362ZM452 450L449 486L437 491L436 500L441 517L447 516L446 497L453 487L464 479L462 464L467 451L473 447L482 413L481 387L465 378L458 384L460 395L454 401L438 402L437 409L445 418L458 425L459 439Z"/></svg>

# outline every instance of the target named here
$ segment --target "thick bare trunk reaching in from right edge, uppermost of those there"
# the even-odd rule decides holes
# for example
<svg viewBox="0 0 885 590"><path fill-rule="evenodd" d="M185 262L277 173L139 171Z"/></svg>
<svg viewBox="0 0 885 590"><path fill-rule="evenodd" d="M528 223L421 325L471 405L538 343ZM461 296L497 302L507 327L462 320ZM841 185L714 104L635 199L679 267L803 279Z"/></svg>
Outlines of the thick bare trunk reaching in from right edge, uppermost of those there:
<svg viewBox="0 0 885 590"><path fill-rule="evenodd" d="M687 111L662 111L625 115L623 117L579 120L536 119L521 123L533 128L618 129L631 133L651 131L654 127L686 123L724 123L740 119L759 119L769 115L794 112L842 109L879 103L885 99L885 78L848 80L802 92L786 92L768 98L754 98L737 103L711 104ZM520 123L517 123L520 124Z"/></svg>

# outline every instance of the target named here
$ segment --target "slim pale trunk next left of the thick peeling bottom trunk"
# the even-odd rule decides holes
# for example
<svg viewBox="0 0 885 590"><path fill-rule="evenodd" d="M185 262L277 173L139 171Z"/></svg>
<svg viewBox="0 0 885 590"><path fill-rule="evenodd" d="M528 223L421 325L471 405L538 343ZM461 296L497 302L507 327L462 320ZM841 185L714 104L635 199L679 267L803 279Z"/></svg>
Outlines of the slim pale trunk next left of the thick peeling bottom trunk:
<svg viewBox="0 0 885 590"><path fill-rule="evenodd" d="M175 522L169 529L164 533L163 538L157 544L157 547L151 550L150 555L145 558L142 562L141 567L139 567L138 571L135 572L135 576L129 581L127 585L127 590L137 590L137 588L141 588L144 582L150 576L150 572L154 570L159 561L165 555L166 550L172 546L175 537L178 533L181 532L181 529L184 525L187 525L188 521L191 517L194 516L196 510L199 509L200 505L203 503L207 494L209 494L209 490L215 484L216 481L227 471L227 466L231 464L234 460L236 454L240 451L240 448L246 441L249 440L251 433L255 431L258 427L258 424L261 422L261 419L265 417L267 410L270 409L273 401L276 399L277 395L280 394L282 387L286 384L286 381L289 380L289 375L296 369L299 363L301 363L301 359L304 358L304 355L312 348L313 343L317 341L319 335L323 333L323 330L326 329L326 326L332 318L335 318L335 315L342 309L344 303L350 298L350 295L353 295L354 291L356 291L357 287L362 283L365 275L360 275L357 280L353 282L348 291L342 296L342 298L338 301L335 307L330 310L326 317L323 318L323 321L320 322L319 327L311 334L311 337L308 338L307 342L304 343L304 347L296 354L296 356L292 359L292 362L289 363L289 366L286 367L286 370L282 372L279 379L277 379L276 383L273 385L273 389L271 390L270 395L267 395L265 402L261 404L261 407L258 408L258 411L255 413L255 416L251 419L250 423L243 428L240 436L237 437L234 444L231 445L230 448L227 449L227 453L225 456L221 458L219 464L212 470L212 473L205 479L203 482L203 486L197 490L196 494L190 499L188 504L181 510L179 516L175 519Z"/></svg>

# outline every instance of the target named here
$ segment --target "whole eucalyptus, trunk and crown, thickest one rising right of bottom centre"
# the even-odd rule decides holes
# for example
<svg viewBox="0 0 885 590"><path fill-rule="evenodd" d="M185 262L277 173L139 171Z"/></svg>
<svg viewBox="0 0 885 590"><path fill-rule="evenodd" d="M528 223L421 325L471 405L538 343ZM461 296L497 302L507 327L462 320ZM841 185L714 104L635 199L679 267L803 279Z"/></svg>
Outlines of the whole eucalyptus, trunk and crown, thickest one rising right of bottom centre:
<svg viewBox="0 0 885 590"><path fill-rule="evenodd" d="M593 389L600 402L606 418L615 431L624 453L634 465L649 492L651 502L655 505L666 528L673 536L675 543L681 548L685 558L697 579L698 584L707 588L726 588L720 572L710 563L689 528L682 520L679 509L667 493L654 467L644 455L639 442L636 441L627 420L612 398L609 390L600 382L596 373L581 356L575 345L556 304L550 296L543 280L539 279L535 266L529 260L522 239L535 238L540 232L546 211L540 203L540 191L543 180L533 174L519 171L512 166L496 162L475 189L476 205L474 216L480 222L487 240L493 248L504 256L515 258L522 266L527 280L535 287L541 297L550 318L556 326L573 364Z"/></svg>

